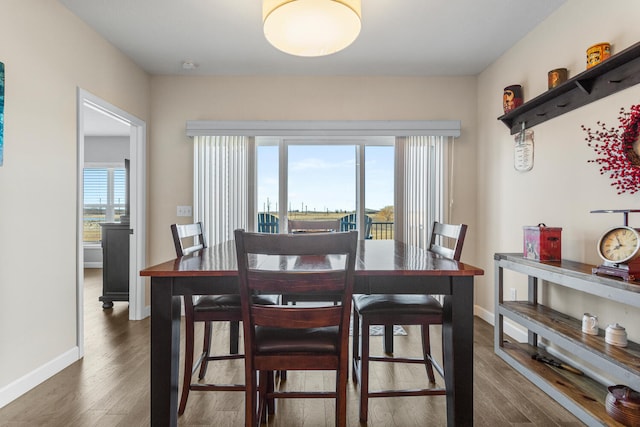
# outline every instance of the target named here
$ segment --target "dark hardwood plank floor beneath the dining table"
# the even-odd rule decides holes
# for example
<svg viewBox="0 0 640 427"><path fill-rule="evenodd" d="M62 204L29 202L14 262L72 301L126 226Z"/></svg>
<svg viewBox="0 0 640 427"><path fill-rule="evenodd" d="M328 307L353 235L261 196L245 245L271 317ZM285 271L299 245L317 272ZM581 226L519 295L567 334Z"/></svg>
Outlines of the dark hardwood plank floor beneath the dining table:
<svg viewBox="0 0 640 427"><path fill-rule="evenodd" d="M149 319L129 321L128 305L115 302L102 310L101 270L85 272L85 357L0 409L0 426L147 426L149 425ZM226 345L228 327L215 342ZM396 352L420 352L418 330L395 338ZM197 334L201 334L201 329ZM477 319L474 339L474 412L476 426L581 426L578 419L541 392L493 353L493 327ZM439 329L432 334L434 344ZM197 338L198 347L201 335ZM381 338L372 339L380 351ZM434 345L434 352L440 347ZM241 361L209 369L218 381L242 381ZM377 364L373 387L403 388L426 378L420 366ZM330 374L291 372L286 386L321 388ZM327 386L328 387L328 386ZM412 427L446 425L444 397L376 398L369 403L369 426ZM333 425L333 402L324 399L279 403L269 426L325 427ZM358 421L358 389L350 384L350 426ZM239 392L192 392L180 426L243 426L244 397Z"/></svg>

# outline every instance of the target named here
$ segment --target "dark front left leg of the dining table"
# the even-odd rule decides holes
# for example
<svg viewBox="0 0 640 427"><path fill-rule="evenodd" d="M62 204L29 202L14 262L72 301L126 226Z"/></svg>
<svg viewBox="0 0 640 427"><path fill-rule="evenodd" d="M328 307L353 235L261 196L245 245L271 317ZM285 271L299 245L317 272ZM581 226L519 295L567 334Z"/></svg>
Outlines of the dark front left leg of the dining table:
<svg viewBox="0 0 640 427"><path fill-rule="evenodd" d="M151 425L178 425L180 297L171 278L151 279Z"/></svg>

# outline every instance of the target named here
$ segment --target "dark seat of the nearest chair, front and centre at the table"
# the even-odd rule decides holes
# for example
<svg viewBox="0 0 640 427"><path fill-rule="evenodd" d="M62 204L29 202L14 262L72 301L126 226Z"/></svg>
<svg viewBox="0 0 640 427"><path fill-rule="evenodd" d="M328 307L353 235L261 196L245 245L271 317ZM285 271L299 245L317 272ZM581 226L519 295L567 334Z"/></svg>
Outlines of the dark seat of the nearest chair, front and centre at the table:
<svg viewBox="0 0 640 427"><path fill-rule="evenodd" d="M340 334L337 326L326 328L256 328L258 353L335 353Z"/></svg>

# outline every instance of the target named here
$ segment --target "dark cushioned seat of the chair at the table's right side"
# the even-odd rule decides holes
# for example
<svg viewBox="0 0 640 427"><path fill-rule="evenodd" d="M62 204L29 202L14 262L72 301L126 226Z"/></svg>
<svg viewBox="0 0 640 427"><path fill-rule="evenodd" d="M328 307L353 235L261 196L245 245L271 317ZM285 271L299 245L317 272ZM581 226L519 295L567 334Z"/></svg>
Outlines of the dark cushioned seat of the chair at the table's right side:
<svg viewBox="0 0 640 427"><path fill-rule="evenodd" d="M353 307L362 314L441 314L442 304L431 295L354 295Z"/></svg>

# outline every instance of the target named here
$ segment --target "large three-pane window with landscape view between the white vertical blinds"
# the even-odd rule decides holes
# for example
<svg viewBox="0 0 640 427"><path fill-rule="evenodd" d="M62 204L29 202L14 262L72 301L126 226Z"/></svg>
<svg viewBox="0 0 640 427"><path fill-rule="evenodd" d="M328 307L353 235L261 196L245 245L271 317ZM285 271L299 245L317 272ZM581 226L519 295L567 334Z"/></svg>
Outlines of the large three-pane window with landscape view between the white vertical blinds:
<svg viewBox="0 0 640 427"><path fill-rule="evenodd" d="M256 169L258 231L285 232L280 218L341 219L393 239L394 138L256 138Z"/></svg>

